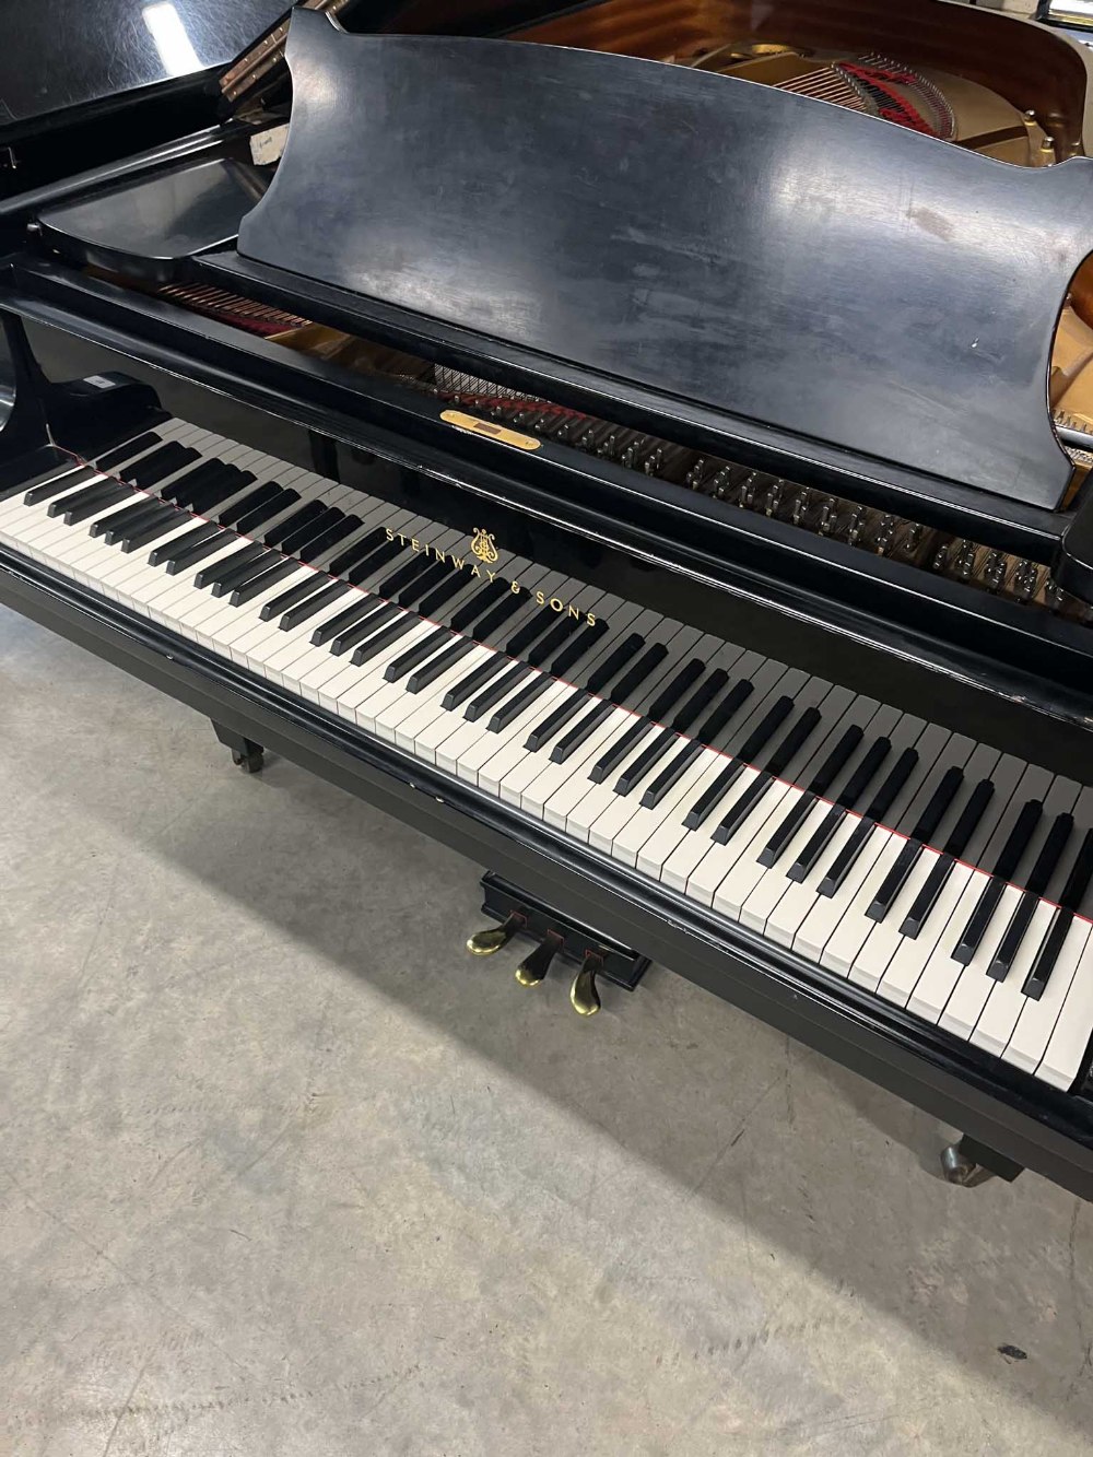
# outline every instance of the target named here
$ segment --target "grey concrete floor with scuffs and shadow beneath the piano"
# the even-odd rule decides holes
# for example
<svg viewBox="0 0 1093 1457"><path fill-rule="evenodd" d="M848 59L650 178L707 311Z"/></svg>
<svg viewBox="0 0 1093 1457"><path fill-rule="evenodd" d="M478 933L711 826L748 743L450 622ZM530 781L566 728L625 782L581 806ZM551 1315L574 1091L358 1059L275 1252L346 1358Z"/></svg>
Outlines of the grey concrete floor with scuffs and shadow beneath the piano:
<svg viewBox="0 0 1093 1457"><path fill-rule="evenodd" d="M0 804L4 1457L1093 1450L1089 1206L3 612Z"/></svg>

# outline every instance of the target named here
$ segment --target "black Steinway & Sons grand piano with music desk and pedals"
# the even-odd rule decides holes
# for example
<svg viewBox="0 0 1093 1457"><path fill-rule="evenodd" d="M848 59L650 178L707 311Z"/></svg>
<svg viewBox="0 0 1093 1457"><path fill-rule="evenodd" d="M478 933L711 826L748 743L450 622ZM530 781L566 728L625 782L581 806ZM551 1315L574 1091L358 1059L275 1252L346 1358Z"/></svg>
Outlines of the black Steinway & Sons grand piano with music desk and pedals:
<svg viewBox="0 0 1093 1457"><path fill-rule="evenodd" d="M93 9L4 61L0 602L497 867L525 985L654 957L1093 1196L1086 48Z"/></svg>

